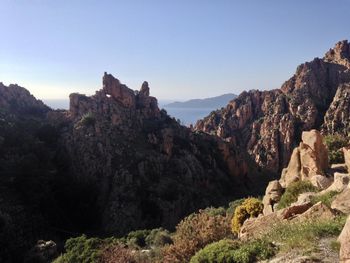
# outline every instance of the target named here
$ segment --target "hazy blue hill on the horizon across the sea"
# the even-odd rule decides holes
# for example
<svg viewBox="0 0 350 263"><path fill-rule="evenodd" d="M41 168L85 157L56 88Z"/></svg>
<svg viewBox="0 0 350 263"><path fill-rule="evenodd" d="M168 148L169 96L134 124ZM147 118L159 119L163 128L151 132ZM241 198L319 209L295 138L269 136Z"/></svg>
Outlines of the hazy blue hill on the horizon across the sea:
<svg viewBox="0 0 350 263"><path fill-rule="evenodd" d="M212 108L213 110L224 107L227 103L236 98L237 95L228 93L217 97L206 99L193 99L184 102L173 102L164 106L164 108Z"/></svg>

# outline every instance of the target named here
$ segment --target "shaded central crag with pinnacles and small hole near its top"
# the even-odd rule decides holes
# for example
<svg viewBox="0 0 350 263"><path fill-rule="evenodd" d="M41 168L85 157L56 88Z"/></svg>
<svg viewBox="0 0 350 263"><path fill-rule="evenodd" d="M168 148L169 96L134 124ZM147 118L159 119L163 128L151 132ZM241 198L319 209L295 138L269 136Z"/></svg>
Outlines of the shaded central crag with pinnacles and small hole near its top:
<svg viewBox="0 0 350 263"><path fill-rule="evenodd" d="M105 74L94 96L70 95L62 135L73 174L96 185L103 230L126 233L221 204L245 189L247 165L233 146L179 125L147 82L133 91Z"/></svg>

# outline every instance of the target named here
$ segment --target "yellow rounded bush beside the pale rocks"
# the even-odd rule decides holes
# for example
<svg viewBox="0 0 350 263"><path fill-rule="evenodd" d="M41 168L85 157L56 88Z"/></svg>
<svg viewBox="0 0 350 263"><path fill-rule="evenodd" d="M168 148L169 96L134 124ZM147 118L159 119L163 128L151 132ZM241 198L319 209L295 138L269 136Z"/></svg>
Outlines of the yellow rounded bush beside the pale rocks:
<svg viewBox="0 0 350 263"><path fill-rule="evenodd" d="M232 232L238 233L244 221L251 217L257 217L262 213L264 205L257 198L247 198L240 206L237 206L232 218Z"/></svg>

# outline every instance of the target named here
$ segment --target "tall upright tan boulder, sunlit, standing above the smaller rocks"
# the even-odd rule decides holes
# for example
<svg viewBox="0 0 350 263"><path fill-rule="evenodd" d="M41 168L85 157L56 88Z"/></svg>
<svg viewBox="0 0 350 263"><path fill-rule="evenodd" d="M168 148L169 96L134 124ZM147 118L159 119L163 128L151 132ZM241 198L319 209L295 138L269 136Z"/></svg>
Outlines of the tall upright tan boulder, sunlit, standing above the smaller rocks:
<svg viewBox="0 0 350 263"><path fill-rule="evenodd" d="M325 176L329 168L328 150L317 130L302 133L302 142L293 150L287 169L282 172L280 183L288 187L292 182L308 180L320 188L327 188L330 180Z"/></svg>

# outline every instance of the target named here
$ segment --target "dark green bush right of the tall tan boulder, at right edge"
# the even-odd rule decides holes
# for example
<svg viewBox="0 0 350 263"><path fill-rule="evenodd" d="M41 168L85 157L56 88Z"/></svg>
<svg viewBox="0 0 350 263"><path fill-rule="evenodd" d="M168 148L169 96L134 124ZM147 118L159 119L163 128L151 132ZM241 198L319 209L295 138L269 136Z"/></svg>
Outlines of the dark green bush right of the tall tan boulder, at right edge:
<svg viewBox="0 0 350 263"><path fill-rule="evenodd" d="M327 135L324 137L324 142L328 148L328 158L331 164L344 163L344 154L342 147L349 145L349 138L342 135Z"/></svg>

